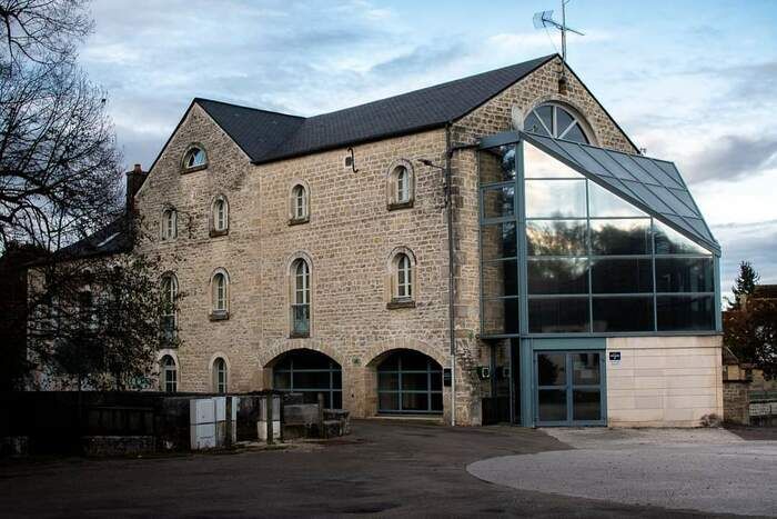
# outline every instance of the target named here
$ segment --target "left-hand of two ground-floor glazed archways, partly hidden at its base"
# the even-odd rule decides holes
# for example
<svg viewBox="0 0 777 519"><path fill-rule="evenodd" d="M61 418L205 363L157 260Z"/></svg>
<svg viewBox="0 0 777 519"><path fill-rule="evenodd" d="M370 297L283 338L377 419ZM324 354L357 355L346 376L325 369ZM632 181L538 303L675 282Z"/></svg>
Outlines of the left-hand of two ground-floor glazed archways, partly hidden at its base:
<svg viewBox="0 0 777 519"><path fill-rule="evenodd" d="M319 351L299 349L282 355L273 368L273 389L302 393L304 401L317 401L324 395L324 406L343 407L343 373L337 362Z"/></svg>

